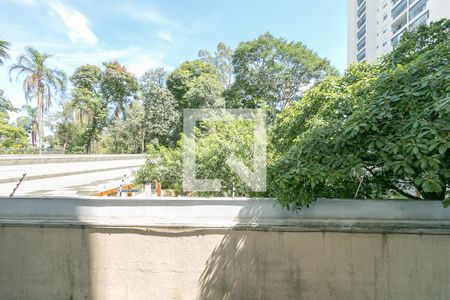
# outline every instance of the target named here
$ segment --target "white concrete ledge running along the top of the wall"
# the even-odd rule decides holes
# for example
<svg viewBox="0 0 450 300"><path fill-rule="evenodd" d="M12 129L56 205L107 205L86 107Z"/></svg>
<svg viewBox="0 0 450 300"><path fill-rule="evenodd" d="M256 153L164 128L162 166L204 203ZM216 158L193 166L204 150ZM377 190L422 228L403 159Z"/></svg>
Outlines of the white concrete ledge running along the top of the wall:
<svg viewBox="0 0 450 300"><path fill-rule="evenodd" d="M273 199L0 198L0 224L450 234L439 201L319 200L298 213Z"/></svg>

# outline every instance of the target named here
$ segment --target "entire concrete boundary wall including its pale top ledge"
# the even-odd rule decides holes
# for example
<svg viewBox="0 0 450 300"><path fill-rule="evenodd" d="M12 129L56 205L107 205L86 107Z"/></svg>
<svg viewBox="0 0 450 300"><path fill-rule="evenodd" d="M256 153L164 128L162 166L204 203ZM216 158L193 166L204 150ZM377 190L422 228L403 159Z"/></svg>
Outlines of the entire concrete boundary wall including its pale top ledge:
<svg viewBox="0 0 450 300"><path fill-rule="evenodd" d="M126 223L139 215L136 211L142 221L151 210L131 201L127 206L131 219L108 225L108 219L122 216L102 209L118 204L97 200L92 209L101 218L91 215L90 222L76 223L69 220L68 210L62 217L61 207L94 200L59 199L59 208L53 213L48 208L46 220L43 212L29 205L29 201L45 203L44 199L17 200L14 206L10 199L0 198L0 299L448 299L450 295L450 218L438 202L321 201L302 216L283 212L273 203L269 209L265 205L271 200L210 199L202 205L200 200L181 199L167 202L165 220L181 207L189 215L186 226L163 224L162 219L131 226ZM164 204L155 201L157 211ZM208 221L212 201L222 201L217 202L221 209L214 218L222 214L223 226ZM340 222L325 219L328 210L340 203L353 204L355 210L336 209ZM373 211L358 213L361 203ZM423 204L429 208L420 210L420 220L412 220ZM25 205L31 208L20 214ZM234 206L244 207L246 213L241 208L236 215ZM390 206L392 212L381 217L381 208ZM74 214L86 217L88 210L84 204ZM227 215L233 214L236 223L230 225ZM364 219L355 221L356 215ZM299 222L293 222L294 216Z"/></svg>

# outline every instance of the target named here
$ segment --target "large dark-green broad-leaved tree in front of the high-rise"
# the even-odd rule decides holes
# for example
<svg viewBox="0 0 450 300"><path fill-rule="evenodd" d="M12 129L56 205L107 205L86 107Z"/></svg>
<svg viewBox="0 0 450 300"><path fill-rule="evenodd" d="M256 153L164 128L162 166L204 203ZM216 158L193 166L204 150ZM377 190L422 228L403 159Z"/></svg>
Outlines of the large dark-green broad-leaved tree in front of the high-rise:
<svg viewBox="0 0 450 300"><path fill-rule="evenodd" d="M447 28L447 22L440 26ZM357 64L285 110L272 132L273 193L285 207L319 197L444 199L450 178L450 43ZM438 31L433 25L431 31ZM446 30L446 29L445 29ZM411 55L417 53L417 55ZM408 59L406 59L408 57ZM417 194L416 194L417 192Z"/></svg>

